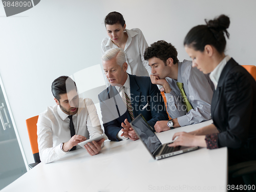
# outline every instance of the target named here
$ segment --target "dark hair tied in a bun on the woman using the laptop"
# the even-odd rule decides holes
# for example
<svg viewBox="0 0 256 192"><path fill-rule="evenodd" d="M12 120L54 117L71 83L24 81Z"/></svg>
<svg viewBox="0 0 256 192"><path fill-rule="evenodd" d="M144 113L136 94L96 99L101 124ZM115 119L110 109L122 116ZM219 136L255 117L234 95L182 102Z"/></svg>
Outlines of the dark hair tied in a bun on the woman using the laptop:
<svg viewBox="0 0 256 192"><path fill-rule="evenodd" d="M226 47L226 39L229 33L227 28L229 27L230 20L226 15L220 15L214 20L205 19L206 25L198 25L192 28L184 39L184 46L191 47L196 51L204 51L206 45L214 46L219 53L223 53Z"/></svg>

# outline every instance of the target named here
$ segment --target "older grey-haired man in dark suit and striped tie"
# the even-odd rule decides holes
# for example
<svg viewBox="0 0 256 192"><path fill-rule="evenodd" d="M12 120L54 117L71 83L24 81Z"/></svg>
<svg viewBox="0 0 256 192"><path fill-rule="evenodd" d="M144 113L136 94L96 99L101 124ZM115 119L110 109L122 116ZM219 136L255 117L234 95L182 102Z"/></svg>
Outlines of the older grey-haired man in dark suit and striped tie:
<svg viewBox="0 0 256 192"><path fill-rule="evenodd" d="M125 53L121 48L110 49L101 57L103 70L110 86L99 95L105 134L110 140L137 140L130 122L142 114L151 127L168 120L160 91L150 77L127 74Z"/></svg>

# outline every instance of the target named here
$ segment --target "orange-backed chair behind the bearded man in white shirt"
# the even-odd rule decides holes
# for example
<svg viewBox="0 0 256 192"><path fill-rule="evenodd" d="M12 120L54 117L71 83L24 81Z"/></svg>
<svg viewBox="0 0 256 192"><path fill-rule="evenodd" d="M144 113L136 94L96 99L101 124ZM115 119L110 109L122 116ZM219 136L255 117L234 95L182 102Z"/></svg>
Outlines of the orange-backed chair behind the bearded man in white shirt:
<svg viewBox="0 0 256 192"><path fill-rule="evenodd" d="M39 157L39 150L38 150L38 144L37 144L37 123L38 120L38 115L31 117L29 119L26 119L26 124L27 124L27 129L28 129L28 134L29 134L29 140L30 140L30 145L33 153L33 157L35 162L29 164L30 168L33 168L36 166L38 163L40 163L40 157Z"/></svg>

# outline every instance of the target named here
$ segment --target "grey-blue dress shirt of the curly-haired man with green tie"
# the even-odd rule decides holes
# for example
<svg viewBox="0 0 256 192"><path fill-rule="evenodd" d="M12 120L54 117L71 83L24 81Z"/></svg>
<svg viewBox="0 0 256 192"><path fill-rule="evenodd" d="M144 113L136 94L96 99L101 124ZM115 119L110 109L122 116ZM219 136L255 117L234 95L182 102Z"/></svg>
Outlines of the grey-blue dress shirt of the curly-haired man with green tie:
<svg viewBox="0 0 256 192"><path fill-rule="evenodd" d="M172 88L170 93L165 93L167 112L173 119L177 118L180 126L211 119L210 103L214 85L208 75L204 75L197 68L192 68L191 61L183 60L178 62L178 79L165 79ZM182 96L177 82L183 83L183 90L194 108L188 113L185 104L181 102Z"/></svg>

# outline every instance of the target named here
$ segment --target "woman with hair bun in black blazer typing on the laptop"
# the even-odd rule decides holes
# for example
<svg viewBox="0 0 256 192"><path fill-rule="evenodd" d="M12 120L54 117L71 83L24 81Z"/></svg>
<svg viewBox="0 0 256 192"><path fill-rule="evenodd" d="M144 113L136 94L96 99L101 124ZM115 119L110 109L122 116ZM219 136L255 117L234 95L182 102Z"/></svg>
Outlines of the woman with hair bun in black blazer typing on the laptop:
<svg viewBox="0 0 256 192"><path fill-rule="evenodd" d="M215 85L211 101L214 123L196 131L176 133L169 146L228 147L229 165L256 160L256 82L233 58L225 55L229 17L220 15L192 28L184 39L193 67L210 73Z"/></svg>

